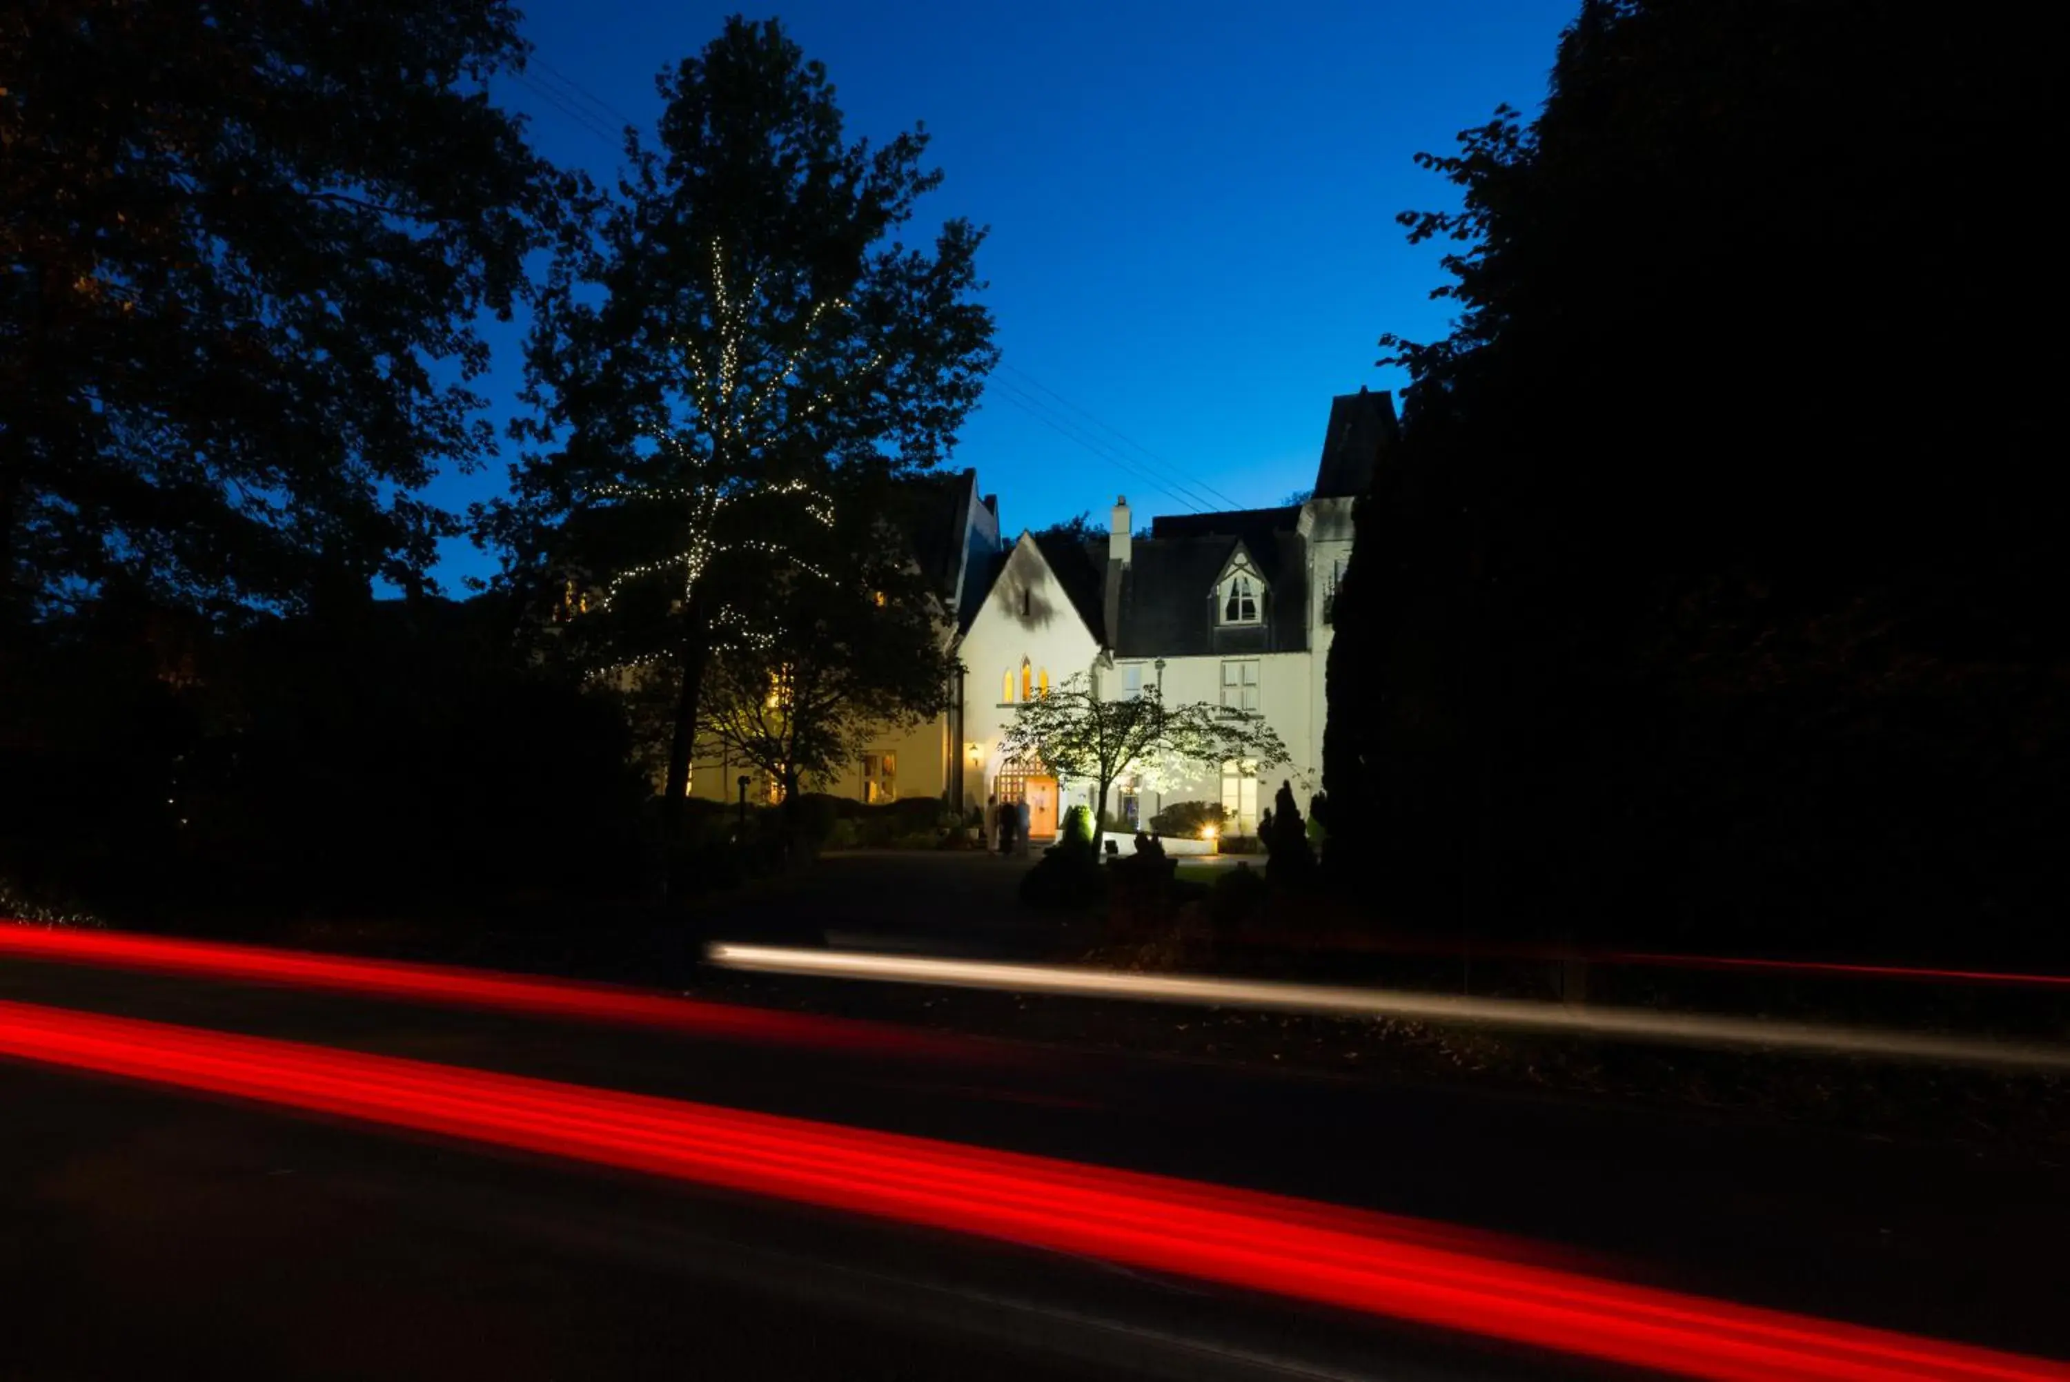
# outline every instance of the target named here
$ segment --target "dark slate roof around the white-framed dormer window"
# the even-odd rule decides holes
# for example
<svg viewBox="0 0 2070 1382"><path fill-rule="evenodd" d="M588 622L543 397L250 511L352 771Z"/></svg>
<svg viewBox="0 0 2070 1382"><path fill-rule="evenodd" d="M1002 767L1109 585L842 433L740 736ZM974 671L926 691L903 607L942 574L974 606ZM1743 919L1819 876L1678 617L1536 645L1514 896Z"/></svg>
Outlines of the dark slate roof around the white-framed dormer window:
<svg viewBox="0 0 2070 1382"><path fill-rule="evenodd" d="M1308 646L1306 541L1298 508L1157 518L1153 537L1130 543L1122 574L1116 657L1300 653ZM1215 530L1232 528L1232 530ZM1176 532L1174 532L1176 528ZM1234 528L1248 528L1240 532ZM1215 580L1242 543L1265 578L1265 620L1223 626Z"/></svg>

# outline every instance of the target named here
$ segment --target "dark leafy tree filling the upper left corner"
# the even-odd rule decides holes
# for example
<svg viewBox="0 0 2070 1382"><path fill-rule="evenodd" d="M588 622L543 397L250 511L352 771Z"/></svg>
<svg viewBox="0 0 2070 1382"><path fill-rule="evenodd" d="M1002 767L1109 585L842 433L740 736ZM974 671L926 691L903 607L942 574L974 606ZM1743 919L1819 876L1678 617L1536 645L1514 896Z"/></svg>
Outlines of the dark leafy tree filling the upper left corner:
<svg viewBox="0 0 2070 1382"><path fill-rule="evenodd" d="M0 638L116 576L424 584L546 205L526 50L503 0L0 17Z"/></svg>

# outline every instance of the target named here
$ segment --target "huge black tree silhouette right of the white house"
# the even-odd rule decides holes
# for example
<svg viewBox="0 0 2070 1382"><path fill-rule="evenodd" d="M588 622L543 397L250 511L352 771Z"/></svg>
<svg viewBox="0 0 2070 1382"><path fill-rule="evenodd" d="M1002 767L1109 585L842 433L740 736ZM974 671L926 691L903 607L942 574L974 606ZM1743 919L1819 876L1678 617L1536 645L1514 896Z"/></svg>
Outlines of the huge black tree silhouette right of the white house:
<svg viewBox="0 0 2070 1382"><path fill-rule="evenodd" d="M1383 342L1325 742L1389 920L2070 957L2070 545L2014 344L2060 259L1985 267L2053 126L2020 29L1590 0L1538 120L1422 160L1459 325Z"/></svg>

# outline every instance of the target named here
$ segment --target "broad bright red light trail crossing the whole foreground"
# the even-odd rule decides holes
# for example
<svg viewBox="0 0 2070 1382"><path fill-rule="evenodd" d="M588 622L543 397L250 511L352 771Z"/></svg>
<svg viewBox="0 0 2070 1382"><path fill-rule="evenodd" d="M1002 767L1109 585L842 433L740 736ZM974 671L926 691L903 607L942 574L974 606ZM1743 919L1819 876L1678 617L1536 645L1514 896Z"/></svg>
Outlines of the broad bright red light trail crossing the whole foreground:
<svg viewBox="0 0 2070 1382"><path fill-rule="evenodd" d="M1476 1254L1167 1177L0 1003L0 1055L952 1229L1716 1382L2070 1382L2070 1365Z"/></svg>

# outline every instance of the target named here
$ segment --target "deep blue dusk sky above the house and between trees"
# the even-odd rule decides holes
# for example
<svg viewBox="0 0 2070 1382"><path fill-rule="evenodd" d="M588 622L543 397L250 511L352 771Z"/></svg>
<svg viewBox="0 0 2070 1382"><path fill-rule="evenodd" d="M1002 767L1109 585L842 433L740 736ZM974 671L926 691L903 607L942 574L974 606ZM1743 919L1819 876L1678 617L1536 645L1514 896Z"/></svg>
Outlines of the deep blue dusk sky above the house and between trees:
<svg viewBox="0 0 2070 1382"><path fill-rule="evenodd" d="M497 95L546 157L611 180L617 118L650 131L654 75L735 4L534 0L536 64ZM1534 112L1575 0L793 0L774 10L826 64L849 135L923 120L946 170L925 222L989 224L979 269L1004 352L956 466L1008 532L1126 493L1136 522L1279 503L1314 483L1333 394L1399 390L1374 340L1447 325L1435 247L1395 211L1451 205L1418 149L1449 151L1499 102ZM766 17L770 10L745 10ZM580 91L571 91L573 81ZM515 408L522 323L493 323L478 381ZM503 443L513 454L511 443ZM505 462L433 499L497 493ZM441 576L495 562L466 541Z"/></svg>

